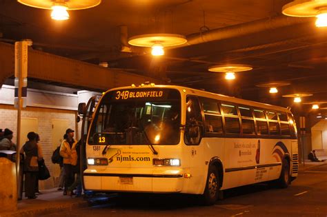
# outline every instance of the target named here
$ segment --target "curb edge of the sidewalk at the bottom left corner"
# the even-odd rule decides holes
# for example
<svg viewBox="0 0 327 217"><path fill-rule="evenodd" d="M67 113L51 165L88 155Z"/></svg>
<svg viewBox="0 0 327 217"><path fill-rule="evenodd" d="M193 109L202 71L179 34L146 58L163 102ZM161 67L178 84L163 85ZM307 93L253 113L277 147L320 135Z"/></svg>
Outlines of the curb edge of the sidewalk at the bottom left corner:
<svg viewBox="0 0 327 217"><path fill-rule="evenodd" d="M72 210L80 207L88 207L88 201L82 200L75 203L59 203L57 205L54 204L52 206L41 207L38 209L26 208L21 210L18 209L17 211L6 211L3 212L2 214L0 213L0 217L41 216L41 215L52 214L54 212L63 211L63 210L66 211Z"/></svg>

